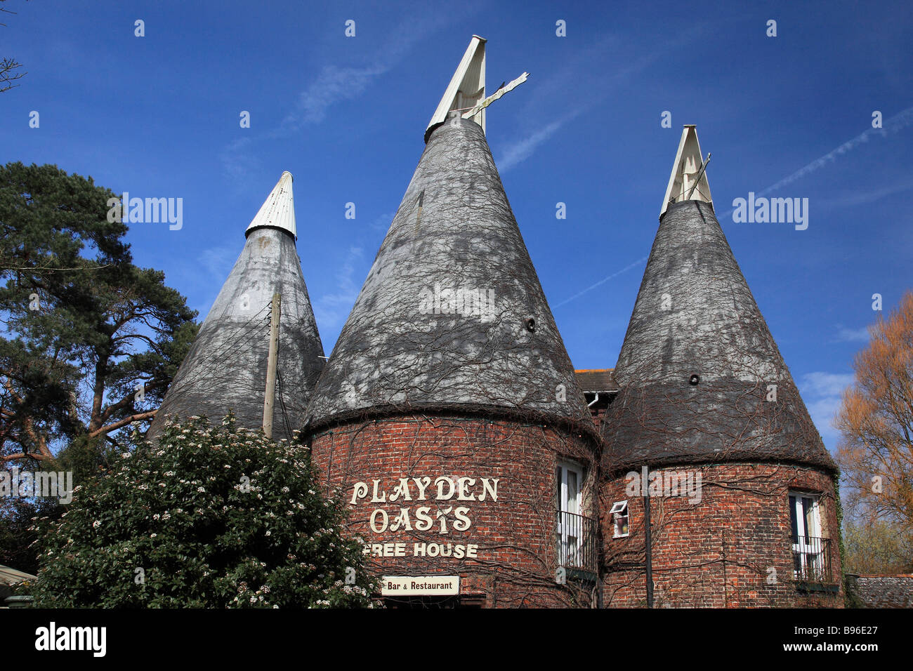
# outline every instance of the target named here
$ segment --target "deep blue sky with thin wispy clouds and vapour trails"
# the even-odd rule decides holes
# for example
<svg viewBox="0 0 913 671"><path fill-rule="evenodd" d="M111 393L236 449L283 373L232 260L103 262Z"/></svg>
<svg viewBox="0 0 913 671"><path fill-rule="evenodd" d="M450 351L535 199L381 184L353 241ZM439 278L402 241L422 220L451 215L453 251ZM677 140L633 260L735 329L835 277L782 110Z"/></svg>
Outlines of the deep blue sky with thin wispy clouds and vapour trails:
<svg viewBox="0 0 913 671"><path fill-rule="evenodd" d="M871 297L887 311L910 287L908 2L5 5L18 13L0 55L28 74L0 96L0 162L183 198L181 230L136 224L128 241L201 319L289 170L331 351L474 33L488 38L489 90L530 72L489 108L488 143L575 367L614 366L685 123L713 154L729 245L832 449ZM771 196L809 199L807 230L722 216L778 183Z"/></svg>

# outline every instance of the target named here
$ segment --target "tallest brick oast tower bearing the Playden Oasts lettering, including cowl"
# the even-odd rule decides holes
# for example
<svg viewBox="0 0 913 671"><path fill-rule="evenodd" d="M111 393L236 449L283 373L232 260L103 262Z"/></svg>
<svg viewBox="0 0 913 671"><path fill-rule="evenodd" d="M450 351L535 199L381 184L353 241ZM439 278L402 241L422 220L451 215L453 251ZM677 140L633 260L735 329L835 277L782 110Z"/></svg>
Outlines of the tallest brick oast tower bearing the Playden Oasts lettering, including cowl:
<svg viewBox="0 0 913 671"><path fill-rule="evenodd" d="M484 77L473 37L305 434L388 605L588 607L598 436L485 138L524 78Z"/></svg>

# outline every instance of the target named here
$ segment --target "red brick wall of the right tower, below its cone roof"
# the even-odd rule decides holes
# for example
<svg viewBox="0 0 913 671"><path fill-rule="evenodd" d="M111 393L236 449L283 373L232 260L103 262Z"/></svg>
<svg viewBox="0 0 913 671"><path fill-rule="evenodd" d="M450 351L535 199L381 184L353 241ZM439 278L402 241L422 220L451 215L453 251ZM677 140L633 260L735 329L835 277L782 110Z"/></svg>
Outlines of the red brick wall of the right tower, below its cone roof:
<svg viewBox="0 0 913 671"><path fill-rule="evenodd" d="M839 529L830 476L810 467L725 464L659 469L700 474L700 502L651 497L655 607L843 606ZM788 491L821 493L822 534L830 538L840 592L801 592L793 580ZM613 539L608 510L628 500L630 536ZM625 477L601 493L607 607L645 605L644 500L625 492ZM775 571L775 573L773 571Z"/></svg>

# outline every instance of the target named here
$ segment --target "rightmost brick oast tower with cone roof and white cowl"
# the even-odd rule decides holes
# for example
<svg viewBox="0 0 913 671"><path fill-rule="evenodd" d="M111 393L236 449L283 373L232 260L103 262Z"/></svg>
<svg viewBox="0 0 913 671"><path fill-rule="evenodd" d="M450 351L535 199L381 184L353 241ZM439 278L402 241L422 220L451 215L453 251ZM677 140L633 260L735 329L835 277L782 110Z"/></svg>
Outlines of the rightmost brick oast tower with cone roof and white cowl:
<svg viewBox="0 0 913 671"><path fill-rule="evenodd" d="M649 563L657 607L839 606L834 463L706 167L686 126L602 425L603 598L645 605Z"/></svg>

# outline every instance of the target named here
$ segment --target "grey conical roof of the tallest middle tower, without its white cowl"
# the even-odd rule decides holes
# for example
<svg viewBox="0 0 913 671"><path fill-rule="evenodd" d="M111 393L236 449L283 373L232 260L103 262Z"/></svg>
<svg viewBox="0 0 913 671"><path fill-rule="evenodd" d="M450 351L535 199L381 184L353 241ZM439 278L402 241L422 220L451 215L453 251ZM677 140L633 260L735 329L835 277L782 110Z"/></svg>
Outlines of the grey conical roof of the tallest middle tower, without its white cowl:
<svg viewBox="0 0 913 671"><path fill-rule="evenodd" d="M308 411L451 410L593 431L482 128L430 131Z"/></svg>

